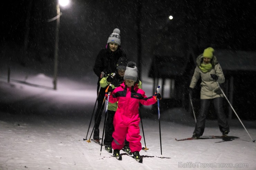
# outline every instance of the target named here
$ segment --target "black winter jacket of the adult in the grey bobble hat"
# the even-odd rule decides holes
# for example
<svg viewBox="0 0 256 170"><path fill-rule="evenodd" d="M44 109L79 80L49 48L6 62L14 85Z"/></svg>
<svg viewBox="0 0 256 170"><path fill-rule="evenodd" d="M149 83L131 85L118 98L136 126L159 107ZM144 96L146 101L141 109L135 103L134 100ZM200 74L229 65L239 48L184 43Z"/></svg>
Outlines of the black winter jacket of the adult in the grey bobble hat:
<svg viewBox="0 0 256 170"><path fill-rule="evenodd" d="M125 52L120 48L115 52L110 51L109 47L100 50L93 67L93 71L99 77L99 81L102 71L106 74L116 71L116 63L120 57L127 58Z"/></svg>

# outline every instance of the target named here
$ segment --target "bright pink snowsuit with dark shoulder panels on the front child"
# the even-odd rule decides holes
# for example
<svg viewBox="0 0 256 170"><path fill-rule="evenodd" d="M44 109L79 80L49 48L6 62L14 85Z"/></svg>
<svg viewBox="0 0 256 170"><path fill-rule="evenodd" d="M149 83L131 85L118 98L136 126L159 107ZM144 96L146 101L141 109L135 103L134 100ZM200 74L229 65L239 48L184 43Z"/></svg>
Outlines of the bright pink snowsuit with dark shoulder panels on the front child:
<svg viewBox="0 0 256 170"><path fill-rule="evenodd" d="M112 134L114 138L112 148L121 150L125 146L126 138L130 143L131 152L140 151L139 102L148 106L156 103L156 99L153 96L147 97L137 84L127 87L123 82L109 96L110 103L117 101L118 108L113 120L115 130Z"/></svg>

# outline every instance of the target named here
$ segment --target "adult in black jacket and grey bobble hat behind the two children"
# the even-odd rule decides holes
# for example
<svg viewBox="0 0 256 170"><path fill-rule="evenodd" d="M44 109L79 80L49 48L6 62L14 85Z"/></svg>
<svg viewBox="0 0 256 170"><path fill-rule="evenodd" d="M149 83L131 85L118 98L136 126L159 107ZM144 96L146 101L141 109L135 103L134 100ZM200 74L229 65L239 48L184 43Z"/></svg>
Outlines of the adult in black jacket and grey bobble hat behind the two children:
<svg viewBox="0 0 256 170"><path fill-rule="evenodd" d="M104 109L103 100L105 97L105 90L106 88L100 88L100 80L103 77L106 77L107 74L115 72L116 71L116 64L120 57L126 57L126 54L124 51L121 50L121 39L120 39L120 30L118 28L113 30L113 33L110 34L106 49L100 50L93 67L94 73L99 77L98 83L97 83L97 95L98 95L98 105L97 110L95 112L94 122L94 133L93 133L93 139L99 140L99 126L101 122L102 117L102 111ZM99 93L98 93L99 92Z"/></svg>

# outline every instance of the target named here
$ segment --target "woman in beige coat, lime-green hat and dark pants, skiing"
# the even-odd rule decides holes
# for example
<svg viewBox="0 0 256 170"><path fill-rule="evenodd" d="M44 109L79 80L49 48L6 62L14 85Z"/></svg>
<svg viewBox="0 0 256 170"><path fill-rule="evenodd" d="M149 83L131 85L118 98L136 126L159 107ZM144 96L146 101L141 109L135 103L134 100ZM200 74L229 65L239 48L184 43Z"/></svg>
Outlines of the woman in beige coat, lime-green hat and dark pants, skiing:
<svg viewBox="0 0 256 170"><path fill-rule="evenodd" d="M223 94L216 82L224 83L225 77L213 52L214 49L208 47L197 57L197 66L189 86L190 90L194 89L196 82L201 77L201 108L193 132L193 138L199 138L203 135L205 119L211 101L213 101L214 109L217 113L218 124L222 135L227 135L229 132L229 124L223 111Z"/></svg>

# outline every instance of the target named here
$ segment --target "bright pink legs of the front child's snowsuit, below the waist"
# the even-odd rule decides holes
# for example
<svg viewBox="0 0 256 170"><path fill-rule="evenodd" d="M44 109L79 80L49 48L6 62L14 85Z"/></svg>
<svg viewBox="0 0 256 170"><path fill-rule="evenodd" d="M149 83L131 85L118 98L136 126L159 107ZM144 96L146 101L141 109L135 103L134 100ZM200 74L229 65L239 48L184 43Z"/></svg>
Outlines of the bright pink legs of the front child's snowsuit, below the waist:
<svg viewBox="0 0 256 170"><path fill-rule="evenodd" d="M113 120L114 132L112 137L112 148L121 150L125 146L125 137L129 142L131 152L141 150L141 136L139 135L139 114L127 117L122 113L116 112Z"/></svg>

